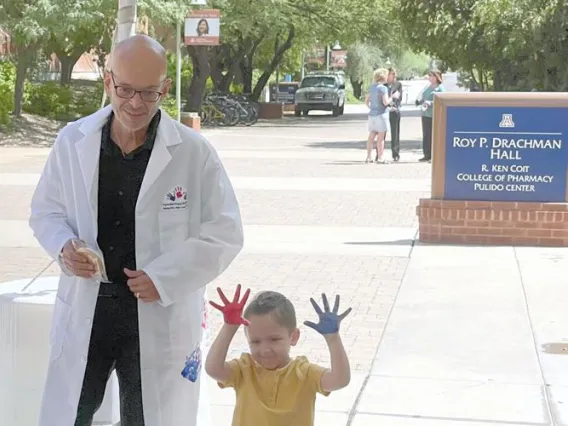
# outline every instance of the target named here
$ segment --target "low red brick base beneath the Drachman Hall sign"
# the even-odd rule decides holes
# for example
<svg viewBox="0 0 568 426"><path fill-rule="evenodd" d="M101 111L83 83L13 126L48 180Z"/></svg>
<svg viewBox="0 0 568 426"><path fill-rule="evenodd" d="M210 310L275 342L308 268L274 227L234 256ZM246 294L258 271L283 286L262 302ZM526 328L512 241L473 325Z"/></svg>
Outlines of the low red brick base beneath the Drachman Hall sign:
<svg viewBox="0 0 568 426"><path fill-rule="evenodd" d="M568 203L420 199L426 243L568 247Z"/></svg>

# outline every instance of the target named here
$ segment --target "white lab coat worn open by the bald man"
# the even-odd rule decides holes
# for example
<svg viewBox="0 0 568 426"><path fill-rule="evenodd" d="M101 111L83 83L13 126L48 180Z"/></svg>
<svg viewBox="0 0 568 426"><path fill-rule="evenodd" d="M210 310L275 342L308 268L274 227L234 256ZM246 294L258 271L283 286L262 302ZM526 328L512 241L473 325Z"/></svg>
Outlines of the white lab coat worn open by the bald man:
<svg viewBox="0 0 568 426"><path fill-rule="evenodd" d="M70 238L97 246L101 129L110 107L67 125L47 159L30 226L58 258ZM184 196L172 200L177 188ZM136 204L136 261L160 301L138 302L146 426L194 426L199 380L181 376L200 345L205 285L240 252L239 206L217 153L199 133L164 111ZM73 426L99 284L61 275L39 426ZM202 373L204 369L202 368Z"/></svg>

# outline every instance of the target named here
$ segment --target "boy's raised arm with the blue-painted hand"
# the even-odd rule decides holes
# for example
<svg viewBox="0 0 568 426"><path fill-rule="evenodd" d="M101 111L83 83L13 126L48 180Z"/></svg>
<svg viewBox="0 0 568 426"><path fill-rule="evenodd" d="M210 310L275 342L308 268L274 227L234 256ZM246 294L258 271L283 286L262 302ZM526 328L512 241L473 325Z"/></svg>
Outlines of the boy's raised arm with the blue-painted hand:
<svg viewBox="0 0 568 426"><path fill-rule="evenodd" d="M315 324L311 321L305 321L304 324L320 333L329 347L331 369L323 373L320 385L324 392L331 392L344 388L351 381L349 359L339 336L339 325L349 315L351 308L339 315L339 296L335 297L332 311L329 309L329 303L325 294L322 294L322 300L323 311L313 298L310 299L312 306L318 314L319 322Z"/></svg>

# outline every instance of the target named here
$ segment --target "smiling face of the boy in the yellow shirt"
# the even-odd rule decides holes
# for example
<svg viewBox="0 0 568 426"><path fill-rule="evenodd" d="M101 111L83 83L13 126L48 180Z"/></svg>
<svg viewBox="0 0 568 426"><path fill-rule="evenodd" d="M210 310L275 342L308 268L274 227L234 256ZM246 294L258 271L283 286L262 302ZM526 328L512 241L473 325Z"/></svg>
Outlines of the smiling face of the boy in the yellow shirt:
<svg viewBox="0 0 568 426"><path fill-rule="evenodd" d="M290 360L290 347L298 343L300 330L290 331L271 314L252 315L245 328L253 359L268 370L284 367Z"/></svg>

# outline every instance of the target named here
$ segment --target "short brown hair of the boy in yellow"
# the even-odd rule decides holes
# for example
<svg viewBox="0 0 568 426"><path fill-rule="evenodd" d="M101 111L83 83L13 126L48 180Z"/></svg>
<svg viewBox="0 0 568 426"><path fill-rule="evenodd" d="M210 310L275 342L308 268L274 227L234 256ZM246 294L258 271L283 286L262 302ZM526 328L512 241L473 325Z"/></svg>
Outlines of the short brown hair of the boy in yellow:
<svg viewBox="0 0 568 426"><path fill-rule="evenodd" d="M293 331L296 329L296 310L286 296L277 291L261 291L248 304L243 317L272 314L279 325Z"/></svg>

